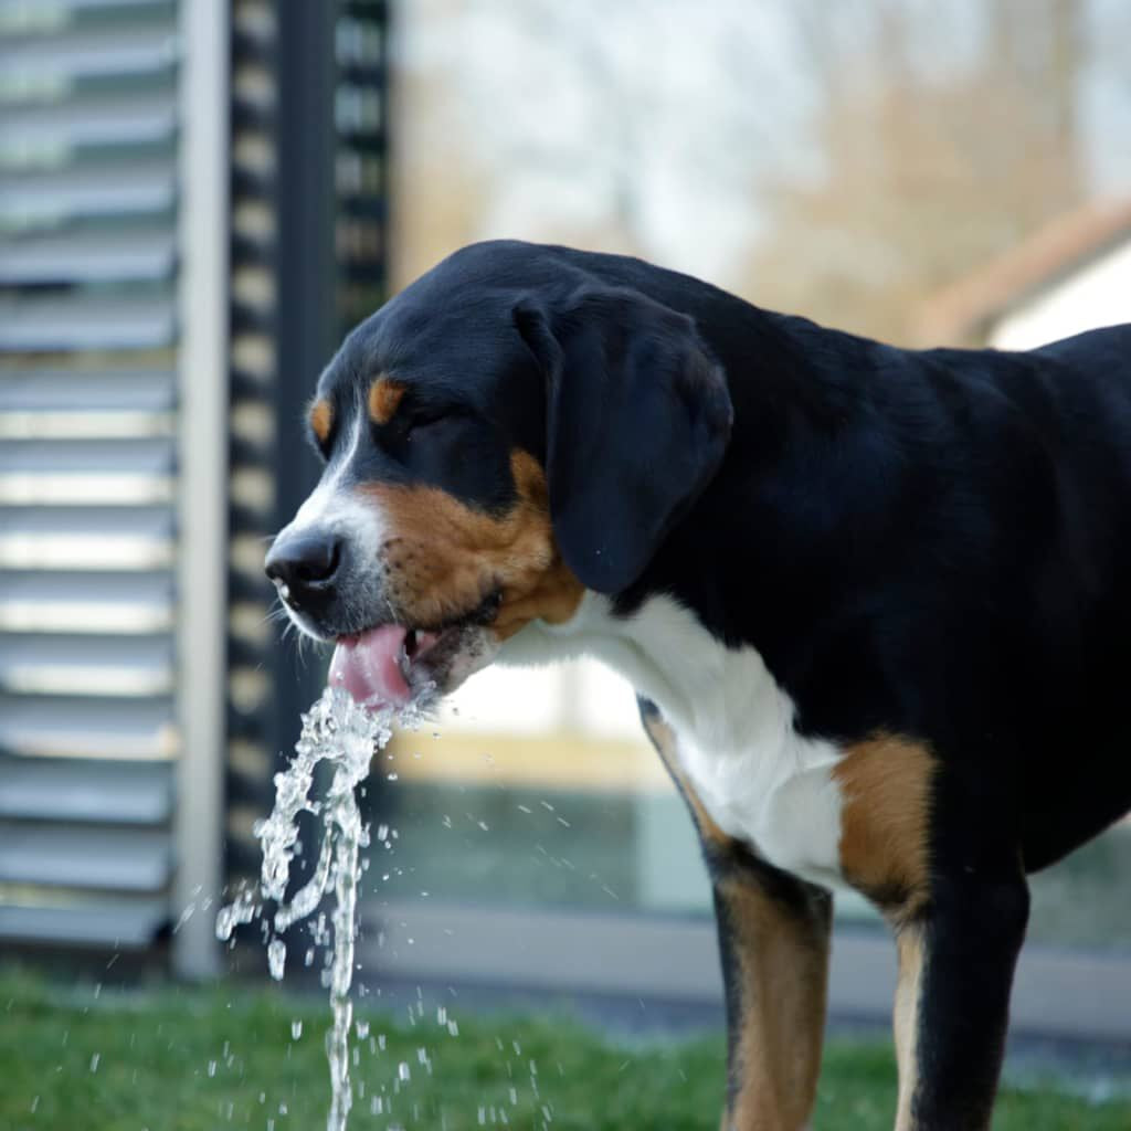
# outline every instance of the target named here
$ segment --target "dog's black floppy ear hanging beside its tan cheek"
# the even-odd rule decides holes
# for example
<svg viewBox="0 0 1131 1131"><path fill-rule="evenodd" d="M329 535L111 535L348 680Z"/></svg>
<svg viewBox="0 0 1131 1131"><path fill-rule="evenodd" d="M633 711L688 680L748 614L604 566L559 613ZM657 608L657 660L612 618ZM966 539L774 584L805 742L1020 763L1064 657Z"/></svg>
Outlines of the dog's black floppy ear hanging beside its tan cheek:
<svg viewBox="0 0 1131 1131"><path fill-rule="evenodd" d="M550 516L566 564L598 593L644 572L718 469L731 434L723 370L691 318L637 291L584 287L515 325L546 378Z"/></svg>

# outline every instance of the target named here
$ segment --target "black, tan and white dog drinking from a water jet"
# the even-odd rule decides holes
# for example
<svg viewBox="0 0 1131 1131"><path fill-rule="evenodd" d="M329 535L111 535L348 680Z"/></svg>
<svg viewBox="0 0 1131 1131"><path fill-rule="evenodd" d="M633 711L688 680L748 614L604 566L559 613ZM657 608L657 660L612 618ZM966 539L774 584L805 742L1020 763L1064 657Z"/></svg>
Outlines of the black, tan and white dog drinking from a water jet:
<svg viewBox="0 0 1131 1131"><path fill-rule="evenodd" d="M900 1131L990 1126L1026 877L1131 809L1131 326L899 349L487 242L345 339L267 556L359 701L590 655L714 888L724 1129L810 1117L831 892L899 958Z"/></svg>

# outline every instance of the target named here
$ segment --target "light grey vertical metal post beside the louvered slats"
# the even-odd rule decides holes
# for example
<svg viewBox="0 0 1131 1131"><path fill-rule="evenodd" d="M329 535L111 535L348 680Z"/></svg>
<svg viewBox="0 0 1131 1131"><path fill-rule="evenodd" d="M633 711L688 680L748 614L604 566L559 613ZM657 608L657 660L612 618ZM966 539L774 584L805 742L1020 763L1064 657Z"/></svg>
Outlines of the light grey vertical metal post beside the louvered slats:
<svg viewBox="0 0 1131 1131"><path fill-rule="evenodd" d="M181 5L178 722L174 917L219 896L227 630L227 0ZM213 916L173 935L185 977L218 969Z"/></svg>

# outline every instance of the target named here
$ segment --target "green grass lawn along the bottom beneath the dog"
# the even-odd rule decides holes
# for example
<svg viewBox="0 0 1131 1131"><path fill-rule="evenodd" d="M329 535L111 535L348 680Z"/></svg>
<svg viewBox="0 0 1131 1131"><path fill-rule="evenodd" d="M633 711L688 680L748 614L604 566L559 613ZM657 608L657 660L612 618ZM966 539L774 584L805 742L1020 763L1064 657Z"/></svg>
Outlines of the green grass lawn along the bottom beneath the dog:
<svg viewBox="0 0 1131 1131"><path fill-rule="evenodd" d="M368 999L372 1001L372 999ZM456 1004L454 1002L454 1004ZM368 1004L351 1129L487 1126L717 1131L720 1038L627 1045L545 1017L449 1018ZM329 1094L318 999L280 990L63 991L0 976L3 1131L260 1131L325 1125ZM292 1039L292 1021L302 1035ZM383 1050L379 1046L383 1043ZM423 1063L421 1057L426 1063ZM402 1080L407 1065L408 1080ZM834 1042L818 1128L888 1129L895 1072L883 1045ZM383 1112L371 1113L379 1097ZM503 1124L500 1113L504 1112ZM482 1113L482 1116L481 1116ZM494 1119L494 1124L492 1124ZM1090 1104L1052 1085L1007 1090L999 1131L1125 1131L1131 1102Z"/></svg>

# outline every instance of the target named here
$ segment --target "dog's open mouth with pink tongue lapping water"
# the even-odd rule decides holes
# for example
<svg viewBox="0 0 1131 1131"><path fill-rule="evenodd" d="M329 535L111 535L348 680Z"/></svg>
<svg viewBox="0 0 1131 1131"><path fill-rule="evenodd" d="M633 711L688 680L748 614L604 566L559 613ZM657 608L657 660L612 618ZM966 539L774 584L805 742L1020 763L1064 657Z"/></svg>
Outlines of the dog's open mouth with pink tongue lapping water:
<svg viewBox="0 0 1131 1131"><path fill-rule="evenodd" d="M484 651L483 629L501 599L493 590L469 613L433 628L379 624L338 637L330 685L370 710L399 707L429 691L444 694L482 666L476 661Z"/></svg>

